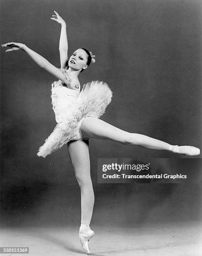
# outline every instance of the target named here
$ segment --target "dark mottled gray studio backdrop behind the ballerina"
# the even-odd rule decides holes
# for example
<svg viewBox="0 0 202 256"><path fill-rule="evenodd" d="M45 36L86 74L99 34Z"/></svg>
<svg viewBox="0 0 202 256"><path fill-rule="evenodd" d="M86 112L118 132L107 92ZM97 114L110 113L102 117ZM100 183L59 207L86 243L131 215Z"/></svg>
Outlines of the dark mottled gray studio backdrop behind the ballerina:
<svg viewBox="0 0 202 256"><path fill-rule="evenodd" d="M85 47L96 64L80 75L113 91L102 120L171 144L201 147L201 1L1 0L1 44L17 41L60 67L60 25L69 55ZM1 50L2 225L79 225L80 189L67 146L37 157L55 127L55 78L23 51ZM97 158L183 157L90 140L92 223L138 225L200 218L200 184L97 184ZM200 156L199 156L200 157ZM191 171L191 170L190 170ZM127 210L127 211L126 211Z"/></svg>

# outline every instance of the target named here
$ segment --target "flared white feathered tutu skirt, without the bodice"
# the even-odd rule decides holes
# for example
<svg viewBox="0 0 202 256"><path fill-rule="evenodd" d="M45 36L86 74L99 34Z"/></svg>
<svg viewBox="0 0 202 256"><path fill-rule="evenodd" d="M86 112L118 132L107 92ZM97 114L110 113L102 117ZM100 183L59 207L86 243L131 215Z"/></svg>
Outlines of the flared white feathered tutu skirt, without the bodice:
<svg viewBox="0 0 202 256"><path fill-rule="evenodd" d="M100 118L111 99L112 91L106 83L92 81L84 84L75 104L68 109L70 115L66 115L66 118L64 115L62 121L55 126L45 143L40 146L37 156L45 158L69 141L88 139L80 131L82 119L87 116Z"/></svg>

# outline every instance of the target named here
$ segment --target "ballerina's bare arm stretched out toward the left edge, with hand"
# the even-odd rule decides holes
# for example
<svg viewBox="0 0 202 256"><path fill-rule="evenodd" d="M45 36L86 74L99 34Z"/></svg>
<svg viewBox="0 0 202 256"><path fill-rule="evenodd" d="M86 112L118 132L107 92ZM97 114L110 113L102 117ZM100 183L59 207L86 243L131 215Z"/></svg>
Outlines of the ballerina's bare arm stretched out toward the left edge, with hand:
<svg viewBox="0 0 202 256"><path fill-rule="evenodd" d="M28 48L25 44L21 44L21 43L7 43L7 44L2 44L2 47L7 47L9 46L11 49L6 50L8 51L17 51L22 49L23 51L25 51L32 59L33 61L35 61L40 67L42 67L43 69L45 69L47 72L49 72L50 74L54 75L55 77L57 77L58 79L60 79L62 82L64 82L65 84L67 84L67 87L70 89L76 89L75 85L70 84L69 81L67 81L65 79L64 74L62 73L62 71L60 69L58 69L57 67L53 66L49 61L47 61L47 59L45 59L44 57L42 57L40 54L37 54L35 51L31 50L30 48Z"/></svg>

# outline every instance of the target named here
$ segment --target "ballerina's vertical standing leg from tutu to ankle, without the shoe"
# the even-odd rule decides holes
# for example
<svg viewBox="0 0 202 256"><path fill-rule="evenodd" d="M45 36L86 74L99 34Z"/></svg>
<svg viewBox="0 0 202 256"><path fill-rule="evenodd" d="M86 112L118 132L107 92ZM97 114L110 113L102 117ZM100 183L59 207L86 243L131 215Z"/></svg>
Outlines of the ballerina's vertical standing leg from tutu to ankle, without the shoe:
<svg viewBox="0 0 202 256"><path fill-rule="evenodd" d="M90 177L88 141L68 143L70 159L81 189L81 223L90 224L94 205L94 192Z"/></svg>

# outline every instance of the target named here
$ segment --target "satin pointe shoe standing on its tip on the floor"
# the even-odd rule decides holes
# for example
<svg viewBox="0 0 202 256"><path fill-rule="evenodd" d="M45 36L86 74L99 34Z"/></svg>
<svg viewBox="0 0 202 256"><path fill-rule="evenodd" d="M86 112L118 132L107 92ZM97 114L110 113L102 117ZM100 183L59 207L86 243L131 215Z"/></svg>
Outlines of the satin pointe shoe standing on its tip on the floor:
<svg viewBox="0 0 202 256"><path fill-rule="evenodd" d="M90 248L89 248L88 242L89 242L89 239L92 238L93 236L94 236L94 231L90 229L89 225L82 224L80 226L79 239L86 254L90 254Z"/></svg>

